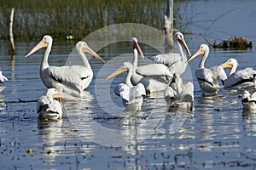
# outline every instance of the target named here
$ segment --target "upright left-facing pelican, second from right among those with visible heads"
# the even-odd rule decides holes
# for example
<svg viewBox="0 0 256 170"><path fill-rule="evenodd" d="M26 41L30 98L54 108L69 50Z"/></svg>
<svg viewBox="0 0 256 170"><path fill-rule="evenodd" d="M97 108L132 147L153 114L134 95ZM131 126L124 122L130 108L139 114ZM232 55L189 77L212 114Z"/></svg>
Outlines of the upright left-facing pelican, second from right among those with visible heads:
<svg viewBox="0 0 256 170"><path fill-rule="evenodd" d="M216 77L218 77L218 75L213 75L211 69L207 69L204 66L209 51L210 49L207 44L201 44L200 48L195 52L195 54L189 57L188 62L200 54L203 55L200 65L195 71L195 77L197 78L203 95L205 95L205 93L217 95L218 89L221 88L218 85L218 80L215 79Z"/></svg>

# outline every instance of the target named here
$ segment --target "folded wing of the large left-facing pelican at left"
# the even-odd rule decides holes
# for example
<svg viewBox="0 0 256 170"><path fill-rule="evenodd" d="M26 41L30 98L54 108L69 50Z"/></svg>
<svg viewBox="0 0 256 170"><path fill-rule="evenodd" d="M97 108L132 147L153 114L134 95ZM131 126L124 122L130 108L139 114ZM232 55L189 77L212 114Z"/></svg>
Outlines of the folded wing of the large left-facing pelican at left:
<svg viewBox="0 0 256 170"><path fill-rule="evenodd" d="M49 66L47 72L49 77L52 77L55 81L76 91L82 91L82 79L76 71L67 69L67 67Z"/></svg>

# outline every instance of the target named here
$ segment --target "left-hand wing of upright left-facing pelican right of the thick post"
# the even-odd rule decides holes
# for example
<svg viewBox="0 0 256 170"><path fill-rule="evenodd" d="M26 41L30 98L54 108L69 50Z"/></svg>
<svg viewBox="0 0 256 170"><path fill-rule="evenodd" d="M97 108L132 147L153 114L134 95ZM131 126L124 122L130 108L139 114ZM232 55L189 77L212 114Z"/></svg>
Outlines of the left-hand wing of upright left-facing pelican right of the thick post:
<svg viewBox="0 0 256 170"><path fill-rule="evenodd" d="M212 71L207 68L200 68L195 71L195 77L203 82L207 82L213 86Z"/></svg>

